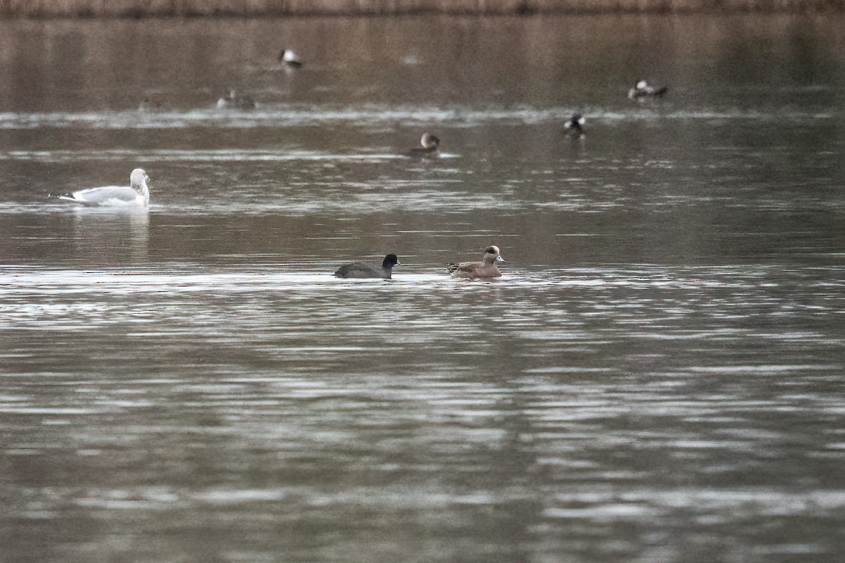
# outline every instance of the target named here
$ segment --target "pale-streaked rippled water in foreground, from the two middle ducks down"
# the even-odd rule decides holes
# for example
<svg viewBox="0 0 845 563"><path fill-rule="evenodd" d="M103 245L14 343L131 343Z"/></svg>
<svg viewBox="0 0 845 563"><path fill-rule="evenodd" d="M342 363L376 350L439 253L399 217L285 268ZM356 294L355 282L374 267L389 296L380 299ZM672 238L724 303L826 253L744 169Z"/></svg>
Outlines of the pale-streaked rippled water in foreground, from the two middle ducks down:
<svg viewBox="0 0 845 563"><path fill-rule="evenodd" d="M19 525L85 515L108 530L157 515L172 549L213 531L212 545L251 560L357 559L335 550L357 544L350 518L391 538L368 558L433 528L485 537L479 557L517 556L523 544L490 526L521 528L541 559L679 559L692 543L730 560L772 525L779 541L755 557L837 549L793 522L841 534L841 272L627 265L349 282L280 269L6 273L6 457L40 484L14 489ZM481 506L485 522L461 517ZM280 522L303 534L263 550L238 537ZM602 529L620 539L566 540ZM89 549L104 548L77 541L67 556Z"/></svg>

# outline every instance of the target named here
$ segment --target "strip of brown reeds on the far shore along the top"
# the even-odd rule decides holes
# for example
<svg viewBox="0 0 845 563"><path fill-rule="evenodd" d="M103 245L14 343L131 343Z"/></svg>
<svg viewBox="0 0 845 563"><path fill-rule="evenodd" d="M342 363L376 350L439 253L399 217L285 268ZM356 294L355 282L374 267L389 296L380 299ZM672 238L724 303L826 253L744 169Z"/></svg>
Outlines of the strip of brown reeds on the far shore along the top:
<svg viewBox="0 0 845 563"><path fill-rule="evenodd" d="M0 0L0 19L842 11L845 0Z"/></svg>

